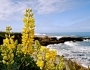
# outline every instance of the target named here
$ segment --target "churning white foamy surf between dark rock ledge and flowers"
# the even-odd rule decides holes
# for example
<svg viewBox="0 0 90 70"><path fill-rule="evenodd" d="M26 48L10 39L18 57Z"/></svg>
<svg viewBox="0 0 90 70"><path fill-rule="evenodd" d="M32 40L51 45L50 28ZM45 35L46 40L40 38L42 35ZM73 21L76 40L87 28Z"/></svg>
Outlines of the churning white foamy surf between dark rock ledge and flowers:
<svg viewBox="0 0 90 70"><path fill-rule="evenodd" d="M77 61L77 63L82 64L84 67L90 66L90 45L83 46L79 42L70 41L64 44L48 45L47 47L56 49L58 55L72 58L73 61Z"/></svg>

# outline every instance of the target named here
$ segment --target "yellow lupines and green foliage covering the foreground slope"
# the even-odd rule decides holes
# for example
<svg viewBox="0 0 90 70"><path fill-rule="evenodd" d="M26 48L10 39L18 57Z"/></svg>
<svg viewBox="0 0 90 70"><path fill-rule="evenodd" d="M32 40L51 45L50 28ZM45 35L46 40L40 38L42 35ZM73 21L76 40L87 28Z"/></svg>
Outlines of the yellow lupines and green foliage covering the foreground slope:
<svg viewBox="0 0 90 70"><path fill-rule="evenodd" d="M10 26L6 26L6 32L0 32L0 70L90 70L89 67L84 68L58 56L56 50L46 48L45 44L41 45L34 36L35 20L32 9L26 9L24 16L22 33L11 33ZM78 40L82 41L82 38Z"/></svg>

